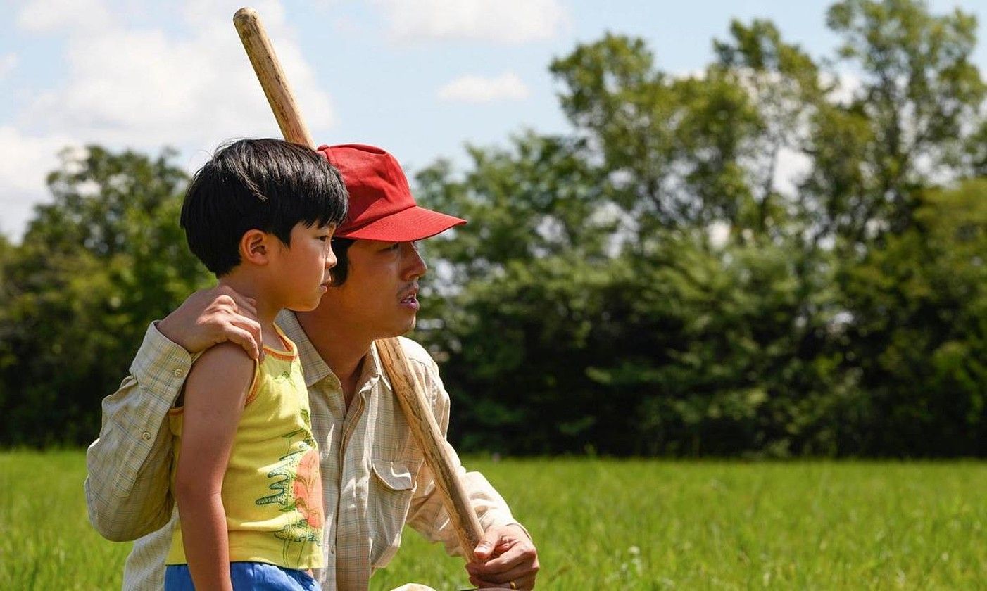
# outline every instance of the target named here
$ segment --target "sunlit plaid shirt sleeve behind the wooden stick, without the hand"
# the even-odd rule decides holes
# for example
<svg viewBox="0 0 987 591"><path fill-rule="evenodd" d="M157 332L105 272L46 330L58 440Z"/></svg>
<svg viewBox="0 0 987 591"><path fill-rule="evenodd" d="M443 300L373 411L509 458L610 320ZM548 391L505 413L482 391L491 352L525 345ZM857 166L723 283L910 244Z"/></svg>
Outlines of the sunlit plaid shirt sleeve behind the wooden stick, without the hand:
<svg viewBox="0 0 987 591"><path fill-rule="evenodd" d="M449 395L442 385L441 378L439 378L438 366L435 362L430 356L424 360L419 357L420 355L415 356L412 366L417 374L419 384L424 388L425 396L432 405L435 420L438 422L444 438L449 428ZM456 472L463 483L463 488L466 490L473 509L477 512L477 517L480 519L480 525L484 531L492 527L510 524L518 525L524 530L524 527L511 515L507 502L493 488L490 481L479 472L467 472L460 462L456 450L448 441L445 441L445 447L453 464L457 467ZM434 477L427 466L422 466L418 471L418 488L412 498L408 525L418 530L426 539L432 542L442 542L448 554L464 554L460 548L459 538L452 527L449 514L442 504ZM527 534L527 530L524 531Z"/></svg>

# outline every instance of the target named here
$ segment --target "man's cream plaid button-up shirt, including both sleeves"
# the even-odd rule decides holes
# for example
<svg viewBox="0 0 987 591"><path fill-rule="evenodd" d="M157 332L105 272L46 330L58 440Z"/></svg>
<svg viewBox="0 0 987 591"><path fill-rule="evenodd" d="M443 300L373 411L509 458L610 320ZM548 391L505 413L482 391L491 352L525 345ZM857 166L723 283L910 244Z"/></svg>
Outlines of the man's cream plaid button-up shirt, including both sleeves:
<svg viewBox="0 0 987 591"><path fill-rule="evenodd" d="M298 345L319 442L326 567L315 574L323 588L366 589L373 570L398 551L406 523L443 542L449 554L462 554L376 349L364 360L347 407L339 379L294 314L282 312L277 324ZM401 343L445 434L449 395L438 367L415 341ZM86 454L90 521L111 540L136 539L124 568L124 589L164 586L165 555L178 516L169 490L172 441L165 417L191 363L185 349L151 325L130 375L103 401L100 438ZM458 462L451 446L449 451ZM459 472L484 529L517 523L483 475L462 467Z"/></svg>

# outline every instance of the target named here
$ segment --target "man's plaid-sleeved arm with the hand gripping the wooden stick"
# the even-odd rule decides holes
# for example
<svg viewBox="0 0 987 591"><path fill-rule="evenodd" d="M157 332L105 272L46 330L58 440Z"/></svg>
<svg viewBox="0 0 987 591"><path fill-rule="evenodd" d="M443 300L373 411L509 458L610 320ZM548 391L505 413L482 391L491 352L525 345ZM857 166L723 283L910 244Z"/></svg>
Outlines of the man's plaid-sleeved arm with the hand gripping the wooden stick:
<svg viewBox="0 0 987 591"><path fill-rule="evenodd" d="M449 427L450 404L438 367L418 343L406 338L401 341L444 437ZM448 442L445 445L486 532L477 548L470 551L474 558L467 565L471 583L478 587L495 587L513 582L518 589L531 589L539 565L538 552L530 535L511 515L506 501L493 485L479 472L466 472L455 449ZM418 473L418 489L412 499L408 524L425 538L442 542L449 554L463 554L427 467L422 467Z"/></svg>

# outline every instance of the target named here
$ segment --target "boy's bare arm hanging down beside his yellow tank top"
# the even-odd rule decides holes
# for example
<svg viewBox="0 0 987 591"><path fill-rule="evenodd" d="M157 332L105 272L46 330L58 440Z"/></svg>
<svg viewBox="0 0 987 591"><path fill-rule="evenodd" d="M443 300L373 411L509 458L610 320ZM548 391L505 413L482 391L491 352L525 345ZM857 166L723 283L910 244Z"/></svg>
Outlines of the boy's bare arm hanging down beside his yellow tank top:
<svg viewBox="0 0 987 591"><path fill-rule="evenodd" d="M175 495L192 581L201 589L233 590L223 476L254 367L239 346L219 344L202 353L186 385Z"/></svg>

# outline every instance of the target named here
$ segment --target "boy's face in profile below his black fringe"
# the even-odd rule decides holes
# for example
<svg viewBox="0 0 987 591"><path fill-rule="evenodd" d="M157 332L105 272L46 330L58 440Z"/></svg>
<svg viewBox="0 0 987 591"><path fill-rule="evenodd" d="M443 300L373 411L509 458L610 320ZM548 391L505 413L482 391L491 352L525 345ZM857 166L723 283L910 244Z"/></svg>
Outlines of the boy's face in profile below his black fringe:
<svg viewBox="0 0 987 591"><path fill-rule="evenodd" d="M277 241L275 282L285 308L296 312L314 310L329 287L329 269L336 266L331 239L336 225L295 224L291 229L291 246Z"/></svg>

